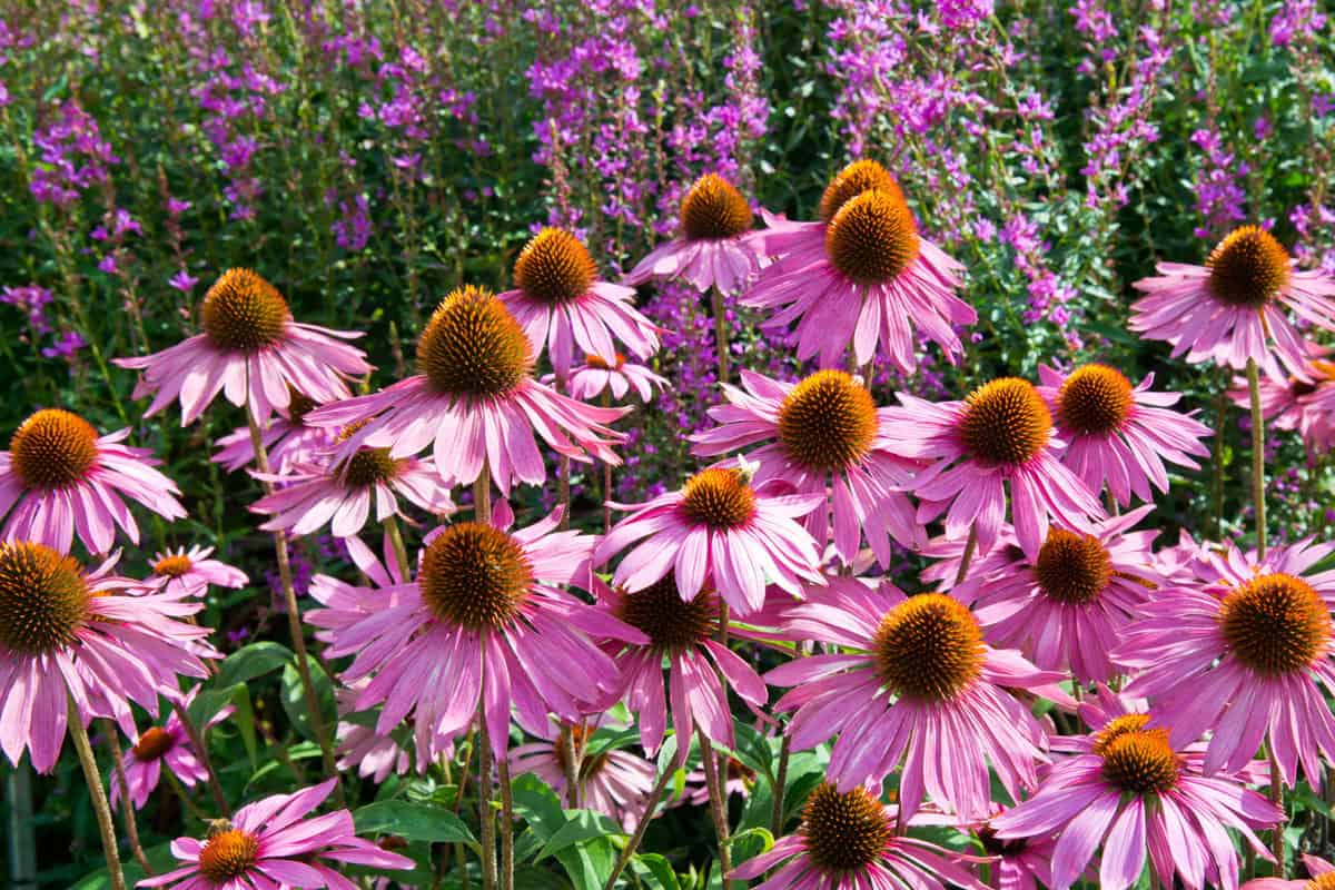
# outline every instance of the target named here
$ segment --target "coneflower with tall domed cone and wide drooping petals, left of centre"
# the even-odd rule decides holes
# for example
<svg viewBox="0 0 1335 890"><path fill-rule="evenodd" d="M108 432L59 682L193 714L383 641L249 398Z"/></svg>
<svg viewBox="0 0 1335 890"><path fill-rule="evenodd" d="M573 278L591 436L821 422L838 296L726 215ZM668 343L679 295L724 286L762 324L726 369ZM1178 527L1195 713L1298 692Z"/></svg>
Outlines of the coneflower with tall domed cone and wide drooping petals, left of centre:
<svg viewBox="0 0 1335 890"><path fill-rule="evenodd" d="M541 484L547 478L537 431L574 460L587 460L590 452L621 463L609 446L625 436L602 424L625 411L586 406L534 380L533 344L490 291L463 287L441 300L417 355L415 376L306 416L331 427L367 422L343 443L340 460L363 446L407 458L434 442L442 478L471 484L486 464L507 492L515 480Z"/></svg>

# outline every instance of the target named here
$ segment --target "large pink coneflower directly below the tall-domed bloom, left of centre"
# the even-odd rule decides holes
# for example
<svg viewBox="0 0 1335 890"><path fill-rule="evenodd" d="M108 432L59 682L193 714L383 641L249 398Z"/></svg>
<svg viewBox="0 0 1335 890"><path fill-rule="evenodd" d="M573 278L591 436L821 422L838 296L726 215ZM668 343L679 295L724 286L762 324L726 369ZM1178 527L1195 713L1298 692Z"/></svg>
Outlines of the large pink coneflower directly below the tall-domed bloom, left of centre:
<svg viewBox="0 0 1335 890"><path fill-rule="evenodd" d="M613 690L615 664L590 636L646 638L557 588L586 583L593 548L586 535L554 531L559 514L511 534L514 514L498 500L491 524L461 522L433 532L417 583L395 587L392 599L374 591L374 602L328 599L307 614L327 628L330 658L355 655L344 682L374 675L356 707L383 703L376 733L414 713L417 755L434 759L473 725L481 703L503 755L511 707L537 735L549 711L574 722L582 703Z"/></svg>

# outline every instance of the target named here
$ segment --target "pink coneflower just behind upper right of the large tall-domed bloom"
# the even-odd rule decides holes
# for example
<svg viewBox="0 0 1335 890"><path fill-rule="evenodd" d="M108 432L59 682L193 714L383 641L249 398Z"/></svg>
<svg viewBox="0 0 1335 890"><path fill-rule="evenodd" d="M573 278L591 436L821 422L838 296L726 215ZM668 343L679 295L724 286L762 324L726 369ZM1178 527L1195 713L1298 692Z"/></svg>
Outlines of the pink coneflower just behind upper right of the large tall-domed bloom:
<svg viewBox="0 0 1335 890"><path fill-rule="evenodd" d="M575 347L615 355L615 338L638 359L658 350L658 327L635 310L635 288L598 280L598 266L578 238L545 228L514 262L517 290L499 299L534 348L547 347L551 367L565 374Z"/></svg>

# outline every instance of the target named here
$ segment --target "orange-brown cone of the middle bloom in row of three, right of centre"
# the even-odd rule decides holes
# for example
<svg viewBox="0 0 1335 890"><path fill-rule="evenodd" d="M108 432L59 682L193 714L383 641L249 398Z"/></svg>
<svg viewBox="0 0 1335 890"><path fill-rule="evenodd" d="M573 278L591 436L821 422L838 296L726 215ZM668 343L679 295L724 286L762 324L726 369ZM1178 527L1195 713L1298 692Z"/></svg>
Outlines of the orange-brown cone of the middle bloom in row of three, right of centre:
<svg viewBox="0 0 1335 890"><path fill-rule="evenodd" d="M1052 415L1028 380L992 380L971 392L965 403L960 436L975 458L1024 463L1048 444Z"/></svg>

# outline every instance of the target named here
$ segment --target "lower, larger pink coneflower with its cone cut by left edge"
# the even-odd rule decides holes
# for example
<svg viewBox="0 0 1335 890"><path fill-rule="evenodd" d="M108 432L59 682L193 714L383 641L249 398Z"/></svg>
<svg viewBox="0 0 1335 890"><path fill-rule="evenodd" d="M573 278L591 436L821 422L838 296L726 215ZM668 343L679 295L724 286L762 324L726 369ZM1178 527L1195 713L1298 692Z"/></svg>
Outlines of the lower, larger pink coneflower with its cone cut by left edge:
<svg viewBox="0 0 1335 890"><path fill-rule="evenodd" d="M85 571L33 542L0 543L0 749L24 750L49 773L65 737L65 697L87 723L111 717L135 734L129 702L158 714L178 675L204 677L188 646L208 628L176 620L203 603L176 594L127 595L111 574L116 556Z"/></svg>

